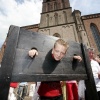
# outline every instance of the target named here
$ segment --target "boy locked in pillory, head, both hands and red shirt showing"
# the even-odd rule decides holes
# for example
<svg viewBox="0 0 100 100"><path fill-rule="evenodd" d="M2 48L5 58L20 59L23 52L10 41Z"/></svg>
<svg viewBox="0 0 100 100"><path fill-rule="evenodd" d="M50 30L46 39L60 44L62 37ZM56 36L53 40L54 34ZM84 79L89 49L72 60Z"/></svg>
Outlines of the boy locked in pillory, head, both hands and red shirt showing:
<svg viewBox="0 0 100 100"><path fill-rule="evenodd" d="M56 40L51 52L52 59L55 62L63 59L68 47L68 43L64 40ZM34 56L38 56L38 51L36 49L31 49L28 54L31 58L33 58ZM77 59L79 61L82 60L82 58L78 55L73 56L73 59ZM40 96L40 100L63 100L60 81L41 82L37 92Z"/></svg>

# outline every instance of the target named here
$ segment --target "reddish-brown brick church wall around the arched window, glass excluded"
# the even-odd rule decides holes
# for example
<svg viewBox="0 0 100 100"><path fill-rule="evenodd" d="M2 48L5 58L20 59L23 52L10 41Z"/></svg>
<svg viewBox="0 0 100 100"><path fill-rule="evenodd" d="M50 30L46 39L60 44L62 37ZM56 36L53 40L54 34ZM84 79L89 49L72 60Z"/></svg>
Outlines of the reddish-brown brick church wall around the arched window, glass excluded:
<svg viewBox="0 0 100 100"><path fill-rule="evenodd" d="M82 19L87 32L87 36L89 38L90 46L95 48L96 52L98 52L94 37L92 35L92 31L90 29L90 24L91 23L95 24L100 33L100 14L82 16Z"/></svg>

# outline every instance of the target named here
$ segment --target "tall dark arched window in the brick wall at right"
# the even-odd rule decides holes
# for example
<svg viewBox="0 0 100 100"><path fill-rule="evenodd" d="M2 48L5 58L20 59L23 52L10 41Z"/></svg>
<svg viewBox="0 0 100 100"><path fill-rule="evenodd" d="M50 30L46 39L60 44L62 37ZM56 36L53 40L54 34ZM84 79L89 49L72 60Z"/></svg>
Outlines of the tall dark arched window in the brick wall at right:
<svg viewBox="0 0 100 100"><path fill-rule="evenodd" d="M97 48L100 51L100 33L99 33L99 30L94 23L91 23L90 28L91 28L94 40L96 42Z"/></svg>

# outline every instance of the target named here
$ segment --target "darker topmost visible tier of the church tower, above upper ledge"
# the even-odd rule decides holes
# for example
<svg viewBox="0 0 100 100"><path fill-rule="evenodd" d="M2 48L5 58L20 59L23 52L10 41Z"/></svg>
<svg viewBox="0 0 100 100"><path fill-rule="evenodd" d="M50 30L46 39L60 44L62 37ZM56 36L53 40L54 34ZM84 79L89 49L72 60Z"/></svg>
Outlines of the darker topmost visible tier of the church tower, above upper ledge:
<svg viewBox="0 0 100 100"><path fill-rule="evenodd" d="M69 8L69 0L43 0L42 12L55 11L59 9Z"/></svg>

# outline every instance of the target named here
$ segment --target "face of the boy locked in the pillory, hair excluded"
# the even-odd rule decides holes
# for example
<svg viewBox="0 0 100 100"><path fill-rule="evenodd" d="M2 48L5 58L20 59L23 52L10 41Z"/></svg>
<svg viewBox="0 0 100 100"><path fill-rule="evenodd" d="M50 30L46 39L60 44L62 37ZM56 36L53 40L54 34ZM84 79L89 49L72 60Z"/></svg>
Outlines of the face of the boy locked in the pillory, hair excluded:
<svg viewBox="0 0 100 100"><path fill-rule="evenodd" d="M61 44L57 44L53 49L52 49L52 54L54 56L54 59L56 61L61 60L65 54L66 54L66 47L64 47Z"/></svg>

